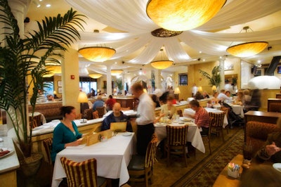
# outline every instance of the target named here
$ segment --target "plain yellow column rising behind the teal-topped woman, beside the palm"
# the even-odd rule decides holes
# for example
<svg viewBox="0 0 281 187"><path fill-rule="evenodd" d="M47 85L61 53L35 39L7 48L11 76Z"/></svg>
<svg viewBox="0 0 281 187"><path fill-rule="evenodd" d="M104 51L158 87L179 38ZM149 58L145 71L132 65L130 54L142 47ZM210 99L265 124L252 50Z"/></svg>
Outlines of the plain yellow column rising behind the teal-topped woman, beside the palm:
<svg viewBox="0 0 281 187"><path fill-rule="evenodd" d="M79 96L79 58L78 51L67 49L62 60L63 105L72 105L77 113L80 111Z"/></svg>

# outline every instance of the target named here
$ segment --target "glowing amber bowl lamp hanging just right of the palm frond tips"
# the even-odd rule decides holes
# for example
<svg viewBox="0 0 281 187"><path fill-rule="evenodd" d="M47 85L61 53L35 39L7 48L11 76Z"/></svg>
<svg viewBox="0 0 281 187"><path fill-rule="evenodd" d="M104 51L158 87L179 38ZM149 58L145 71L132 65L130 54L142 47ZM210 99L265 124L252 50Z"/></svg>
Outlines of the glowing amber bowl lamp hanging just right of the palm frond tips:
<svg viewBox="0 0 281 187"><path fill-rule="evenodd" d="M115 49L103 46L92 46L79 49L81 56L93 62L104 62L115 54Z"/></svg>

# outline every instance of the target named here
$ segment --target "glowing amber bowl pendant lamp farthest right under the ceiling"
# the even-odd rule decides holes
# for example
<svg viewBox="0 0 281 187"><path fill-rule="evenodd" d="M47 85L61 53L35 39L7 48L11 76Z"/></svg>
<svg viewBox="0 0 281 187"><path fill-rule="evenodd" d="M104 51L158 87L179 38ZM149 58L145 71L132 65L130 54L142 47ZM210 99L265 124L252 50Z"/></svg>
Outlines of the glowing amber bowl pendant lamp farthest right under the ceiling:
<svg viewBox="0 0 281 187"><path fill-rule="evenodd" d="M253 41L243 44L237 44L235 46L230 46L226 51L233 56L237 57L248 57L254 56L258 53L261 53L268 46L266 41Z"/></svg>

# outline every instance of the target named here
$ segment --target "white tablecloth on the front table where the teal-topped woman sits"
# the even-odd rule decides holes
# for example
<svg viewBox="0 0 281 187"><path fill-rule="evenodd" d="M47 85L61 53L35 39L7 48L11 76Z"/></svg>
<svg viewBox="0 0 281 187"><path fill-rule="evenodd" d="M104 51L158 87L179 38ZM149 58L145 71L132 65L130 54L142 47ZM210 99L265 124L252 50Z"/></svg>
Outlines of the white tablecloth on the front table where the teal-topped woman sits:
<svg viewBox="0 0 281 187"><path fill-rule="evenodd" d="M91 158L97 160L98 176L110 179L119 179L119 186L129 180L127 166L133 155L133 136L112 136L105 142L95 143L81 149L65 148L55 157L53 168L52 186L58 186L63 180L65 170L60 162L60 157L67 157L75 162L82 162Z"/></svg>

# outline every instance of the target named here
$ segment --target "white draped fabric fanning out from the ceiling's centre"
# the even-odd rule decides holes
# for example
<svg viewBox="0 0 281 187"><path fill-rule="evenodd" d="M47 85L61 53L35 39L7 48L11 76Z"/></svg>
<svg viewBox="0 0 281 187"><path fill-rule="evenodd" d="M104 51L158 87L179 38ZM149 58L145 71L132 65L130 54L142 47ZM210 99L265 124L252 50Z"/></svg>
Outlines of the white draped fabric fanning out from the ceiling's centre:
<svg viewBox="0 0 281 187"><path fill-rule="evenodd" d="M244 24L280 11L280 0L228 0L221 11L209 22L174 37L152 36L151 32L159 27L148 18L145 12L148 0L65 1L89 18L124 31L124 33L81 32L80 47L90 44L112 44L126 41L126 44L123 43L122 46L117 47L115 56L112 57L112 59L119 59L129 56L129 54L145 46L136 58L127 60L127 63L148 64L157 56L162 46L165 47L169 60L174 60L175 63L191 61L192 58L183 49L181 42L192 49L202 51L202 53L222 56L228 54L226 49L233 41L243 43L245 41L277 41L281 39L281 27L248 33L208 32ZM228 46L222 45L221 41L229 41Z"/></svg>

